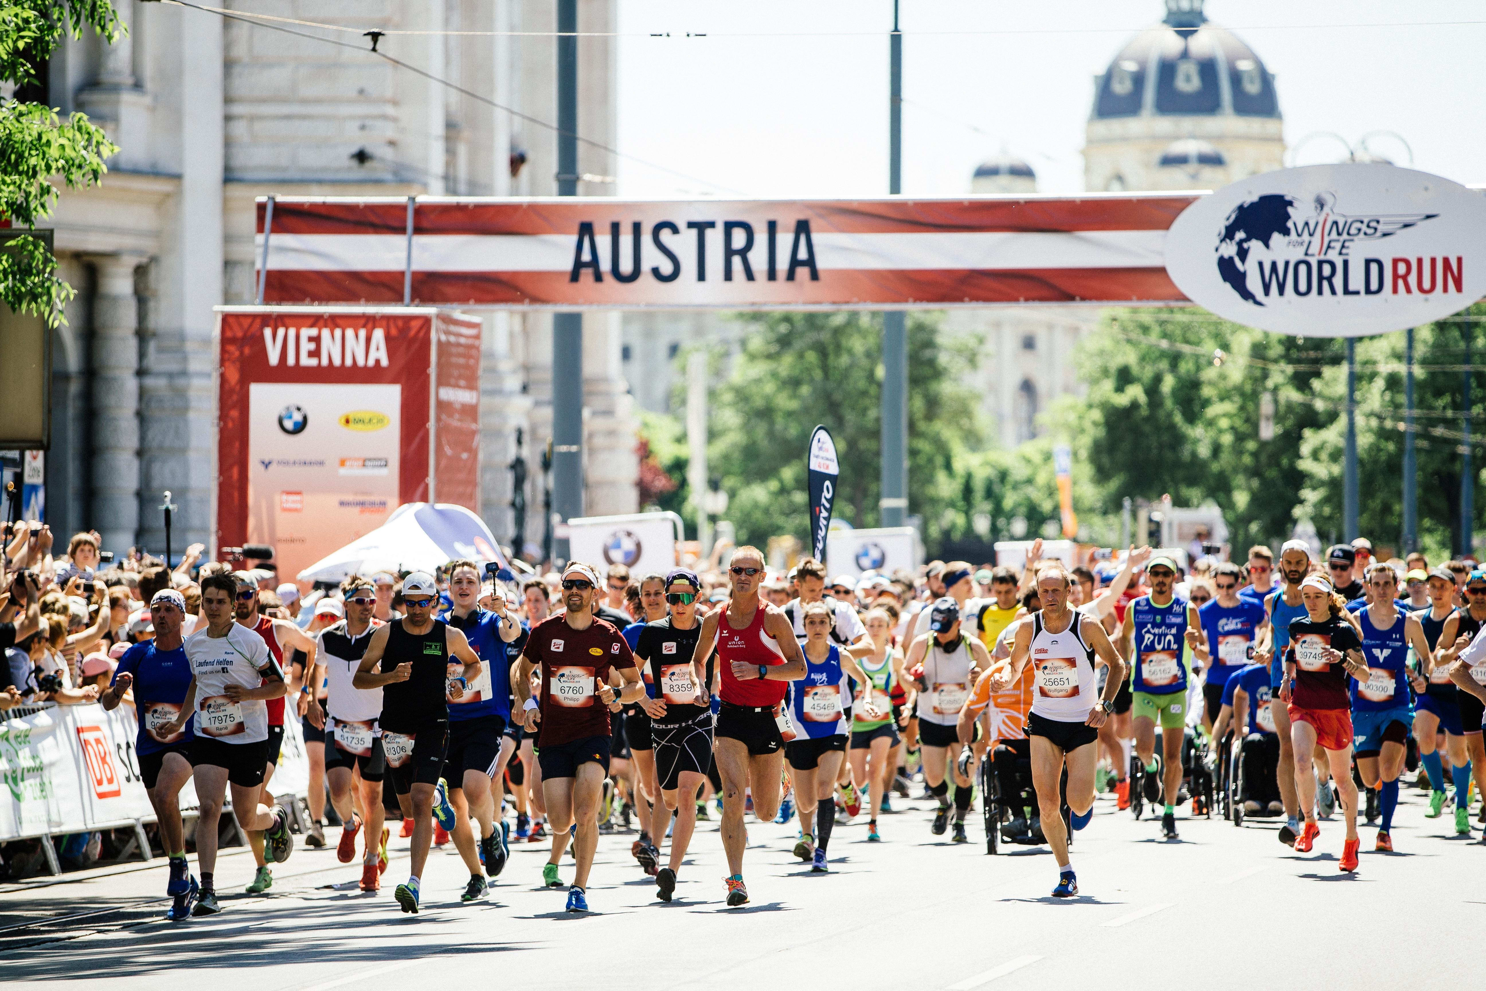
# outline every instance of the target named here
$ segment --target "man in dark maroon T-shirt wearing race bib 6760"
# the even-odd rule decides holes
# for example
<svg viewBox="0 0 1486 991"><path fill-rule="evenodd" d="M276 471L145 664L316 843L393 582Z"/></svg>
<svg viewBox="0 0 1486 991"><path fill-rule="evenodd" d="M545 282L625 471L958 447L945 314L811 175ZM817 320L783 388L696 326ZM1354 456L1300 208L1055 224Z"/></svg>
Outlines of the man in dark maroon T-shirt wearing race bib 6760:
<svg viewBox="0 0 1486 991"><path fill-rule="evenodd" d="M532 627L516 661L516 701L526 731L536 734L542 798L553 828L551 859L542 868L547 887L560 887L557 860L568 828L577 823L577 868L568 888L568 911L588 911L588 872L599 847L599 796L609 774L614 727L609 706L639 701L645 683L624 636L593 615L600 596L599 574L583 562L562 572L563 614ZM532 672L541 672L538 697L531 697ZM623 679L617 695L611 675ZM559 838L562 842L559 842Z"/></svg>

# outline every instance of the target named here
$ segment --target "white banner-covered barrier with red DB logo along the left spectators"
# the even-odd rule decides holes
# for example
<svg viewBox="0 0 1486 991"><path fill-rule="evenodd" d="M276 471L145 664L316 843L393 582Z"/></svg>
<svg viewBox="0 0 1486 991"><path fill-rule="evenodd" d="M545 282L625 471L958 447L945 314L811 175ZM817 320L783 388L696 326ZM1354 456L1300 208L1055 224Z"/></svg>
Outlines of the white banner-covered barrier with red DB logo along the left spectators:
<svg viewBox="0 0 1486 991"><path fill-rule="evenodd" d="M138 724L129 706L48 706L0 721L0 842L27 836L120 829L155 822L134 753ZM273 773L275 796L305 795L309 761L293 716ZM192 782L181 811L198 807Z"/></svg>

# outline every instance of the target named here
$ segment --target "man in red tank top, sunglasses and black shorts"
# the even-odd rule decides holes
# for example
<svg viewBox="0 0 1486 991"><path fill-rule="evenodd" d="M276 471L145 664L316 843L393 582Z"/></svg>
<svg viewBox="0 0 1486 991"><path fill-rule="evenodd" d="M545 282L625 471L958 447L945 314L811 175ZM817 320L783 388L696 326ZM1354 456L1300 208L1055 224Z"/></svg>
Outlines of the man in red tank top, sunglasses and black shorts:
<svg viewBox="0 0 1486 991"><path fill-rule="evenodd" d="M728 568L733 597L727 609L701 624L694 664L706 670L718 652L722 703L713 732L718 774L722 776L722 848L728 854L728 905L747 902L743 887L744 792L753 796L753 814L768 822L779 813L779 782L785 765L785 740L776 719L783 710L786 682L805 676L805 658L783 611L759 602L764 584L764 554L740 547ZM706 701L706 691L703 698Z"/></svg>

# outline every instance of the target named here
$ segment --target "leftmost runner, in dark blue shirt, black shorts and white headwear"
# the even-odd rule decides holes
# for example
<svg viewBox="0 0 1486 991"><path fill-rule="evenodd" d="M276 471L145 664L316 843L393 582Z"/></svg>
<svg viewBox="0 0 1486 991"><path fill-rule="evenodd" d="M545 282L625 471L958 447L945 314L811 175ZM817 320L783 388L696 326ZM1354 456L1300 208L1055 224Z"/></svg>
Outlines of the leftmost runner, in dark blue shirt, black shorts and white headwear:
<svg viewBox="0 0 1486 991"><path fill-rule="evenodd" d="M171 875L165 893L175 899L174 918L184 918L195 903L195 887L186 868L186 839L181 828L180 790L190 780L190 746L195 732L183 725L168 732L181 713L186 688L190 685L190 661L181 642L181 620L186 600L174 588L162 588L150 600L155 639L128 648L114 670L108 691L98 697L106 710L117 709L125 692L134 688L134 712L138 731L134 756L140 765L140 783L150 796L159 823L160 845L169 859Z"/></svg>

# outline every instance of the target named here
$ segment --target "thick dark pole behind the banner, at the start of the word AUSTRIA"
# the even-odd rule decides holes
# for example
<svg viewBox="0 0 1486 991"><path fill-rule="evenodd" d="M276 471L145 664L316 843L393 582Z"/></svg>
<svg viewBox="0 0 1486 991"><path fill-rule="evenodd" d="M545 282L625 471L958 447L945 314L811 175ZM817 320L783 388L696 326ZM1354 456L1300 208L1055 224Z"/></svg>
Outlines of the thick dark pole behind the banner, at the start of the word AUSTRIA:
<svg viewBox="0 0 1486 991"><path fill-rule="evenodd" d="M578 0L557 0L557 195L578 195ZM553 554L583 516L583 313L553 316Z"/></svg>

